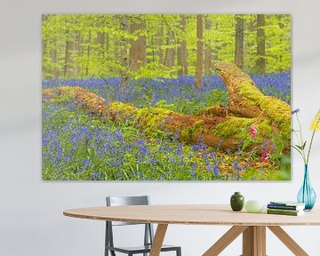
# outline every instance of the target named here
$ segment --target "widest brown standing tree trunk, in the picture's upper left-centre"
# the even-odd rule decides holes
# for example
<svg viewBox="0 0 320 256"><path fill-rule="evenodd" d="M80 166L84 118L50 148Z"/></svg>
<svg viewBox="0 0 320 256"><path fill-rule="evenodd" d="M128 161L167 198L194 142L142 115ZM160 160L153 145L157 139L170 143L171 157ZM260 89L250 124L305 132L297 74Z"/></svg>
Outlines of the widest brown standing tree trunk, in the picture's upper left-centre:
<svg viewBox="0 0 320 256"><path fill-rule="evenodd" d="M145 27L142 19L135 19L130 23L130 33L138 36L137 39L130 41L130 69L132 71L137 71L140 66L147 62L146 36L140 36L141 30Z"/></svg>

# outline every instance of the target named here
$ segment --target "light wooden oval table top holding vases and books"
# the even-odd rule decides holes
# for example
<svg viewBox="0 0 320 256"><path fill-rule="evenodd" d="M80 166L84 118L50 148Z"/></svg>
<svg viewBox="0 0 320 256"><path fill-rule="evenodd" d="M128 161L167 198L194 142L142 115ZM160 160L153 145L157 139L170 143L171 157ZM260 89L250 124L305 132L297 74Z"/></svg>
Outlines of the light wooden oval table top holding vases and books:
<svg viewBox="0 0 320 256"><path fill-rule="evenodd" d="M65 216L88 220L143 223L223 225L223 226L301 226L320 225L320 209L300 216L233 212L228 204L167 204L103 206L70 209Z"/></svg>

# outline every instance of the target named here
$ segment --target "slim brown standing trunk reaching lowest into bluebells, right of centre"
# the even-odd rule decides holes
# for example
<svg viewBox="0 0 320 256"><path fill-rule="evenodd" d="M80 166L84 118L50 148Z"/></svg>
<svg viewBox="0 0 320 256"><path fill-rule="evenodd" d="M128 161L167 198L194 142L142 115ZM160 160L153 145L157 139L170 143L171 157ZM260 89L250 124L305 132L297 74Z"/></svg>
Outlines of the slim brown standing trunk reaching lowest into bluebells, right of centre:
<svg viewBox="0 0 320 256"><path fill-rule="evenodd" d="M204 66L204 15L196 15L196 91L203 85Z"/></svg>

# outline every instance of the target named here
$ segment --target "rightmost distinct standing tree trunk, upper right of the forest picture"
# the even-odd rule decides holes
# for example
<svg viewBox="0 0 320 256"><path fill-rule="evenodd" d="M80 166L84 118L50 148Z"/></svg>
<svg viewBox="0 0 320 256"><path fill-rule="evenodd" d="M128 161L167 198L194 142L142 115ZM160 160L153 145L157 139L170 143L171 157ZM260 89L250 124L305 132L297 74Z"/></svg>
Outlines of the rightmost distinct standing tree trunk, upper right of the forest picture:
<svg viewBox="0 0 320 256"><path fill-rule="evenodd" d="M266 35L265 35L265 15L257 14L257 71L266 73Z"/></svg>

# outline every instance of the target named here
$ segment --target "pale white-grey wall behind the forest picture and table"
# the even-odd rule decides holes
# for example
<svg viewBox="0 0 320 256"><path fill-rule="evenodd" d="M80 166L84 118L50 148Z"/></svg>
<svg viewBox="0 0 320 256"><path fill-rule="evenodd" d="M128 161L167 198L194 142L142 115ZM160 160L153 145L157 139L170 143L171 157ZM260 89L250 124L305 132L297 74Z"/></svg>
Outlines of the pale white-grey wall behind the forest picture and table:
<svg viewBox="0 0 320 256"><path fill-rule="evenodd" d="M0 255L102 255L103 222L62 216L67 208L103 205L106 195L152 196L153 204L228 203L294 199L302 163L294 154L291 182L44 182L41 180L42 13L291 13L293 107L308 128L320 107L320 2L318 0L4 0L0 11ZM320 134L310 163L320 195ZM285 228L310 255L320 227ZM167 243L183 255L201 255L227 227L171 226ZM121 231L122 232L122 231ZM123 234L123 236L128 236ZM239 255L240 240L223 255ZM268 255L292 255L268 233Z"/></svg>

